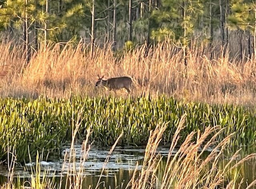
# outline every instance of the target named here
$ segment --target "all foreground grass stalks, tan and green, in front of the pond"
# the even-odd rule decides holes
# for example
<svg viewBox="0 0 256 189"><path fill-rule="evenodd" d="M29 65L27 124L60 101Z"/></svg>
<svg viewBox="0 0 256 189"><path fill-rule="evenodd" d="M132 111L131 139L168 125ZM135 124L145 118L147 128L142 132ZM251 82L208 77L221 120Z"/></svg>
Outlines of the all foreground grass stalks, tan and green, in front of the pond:
<svg viewBox="0 0 256 189"><path fill-rule="evenodd" d="M76 134L78 134L79 128L82 126L83 112L80 110L78 112L77 120L71 120L73 125L72 131L72 142L70 147L70 155L64 158L64 164L72 165L68 169L67 180L62 182L62 179L54 183L54 179L49 179L47 177L48 171L43 171L40 169L40 159L37 155L35 167L31 167L31 177L28 179L26 185L21 183L14 183L13 171L14 164L9 167L10 177L8 182L1 187L1 189L10 188L31 188L31 189L54 189L61 188L64 185L66 189L79 189L82 187L83 179L83 166L82 164L86 161L86 156L90 151L91 145L89 142L91 128L88 128L85 137L85 145L88 146L83 152L83 156L80 158L80 165L76 167L75 159L76 152L74 150L74 142L76 140ZM219 135L224 131L224 128L220 129L219 126L208 126L205 128L204 132L191 132L187 135L186 139L180 146L180 132L185 128L186 115L183 115L177 125L177 129L174 132L173 140L170 144L170 151L167 158L167 163L164 167L164 171L160 171L160 164L162 157L156 152L158 146L160 145L164 132L168 128L168 122L157 124L156 127L150 131L148 138L148 143L145 148L144 161L141 169L136 169L130 179L128 185L124 188L132 189L155 189L155 188L183 188L183 189L216 189L216 188L244 188L239 185L242 183L237 176L237 167L243 162L250 159L256 158L256 154L250 154L240 160L236 160L239 156L240 150L234 153L234 155L228 160L226 165L218 166L219 161L223 161L224 150L228 146L229 140L234 136L234 133L223 138L223 140L218 141ZM105 163L102 167L102 173L106 163L108 163L108 158L114 150L115 146L118 144L119 140L123 137L121 133L113 144ZM210 137L210 140L207 140ZM194 140L193 138L196 138ZM88 144L88 145L87 145ZM202 158L202 154L206 151L209 146L214 146L213 150L207 156L207 158ZM202 147L202 150L200 150ZM174 149L178 149L174 152ZM12 162L15 159L15 152L12 154ZM42 159L41 159L42 160ZM208 167L207 165L211 165ZM27 168L29 169L29 168ZM160 177L159 177L160 175ZM98 179L98 183L95 188L104 188L104 183L100 181L102 174ZM54 177L53 177L54 178ZM61 177L62 178L62 177ZM248 183L246 189L254 186L256 181Z"/></svg>

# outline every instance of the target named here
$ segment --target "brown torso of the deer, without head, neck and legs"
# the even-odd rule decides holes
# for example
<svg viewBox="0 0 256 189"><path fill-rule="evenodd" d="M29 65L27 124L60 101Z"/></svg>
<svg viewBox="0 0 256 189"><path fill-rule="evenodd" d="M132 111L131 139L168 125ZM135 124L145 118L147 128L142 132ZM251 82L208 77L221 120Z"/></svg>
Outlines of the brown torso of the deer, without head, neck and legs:
<svg viewBox="0 0 256 189"><path fill-rule="evenodd" d="M132 79L130 77L113 77L107 80L107 86L110 89L121 89L130 87Z"/></svg>

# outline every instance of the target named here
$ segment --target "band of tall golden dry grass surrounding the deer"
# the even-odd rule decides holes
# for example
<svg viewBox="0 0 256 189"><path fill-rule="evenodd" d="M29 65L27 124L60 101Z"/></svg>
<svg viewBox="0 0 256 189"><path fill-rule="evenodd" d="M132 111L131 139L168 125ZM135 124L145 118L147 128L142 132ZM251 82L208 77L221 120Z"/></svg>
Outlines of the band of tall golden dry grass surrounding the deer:
<svg viewBox="0 0 256 189"><path fill-rule="evenodd" d="M0 66L8 73L0 79L1 96L56 96L109 94L95 88L97 75L105 78L131 76L136 83L133 95L167 94L191 100L250 103L255 100L256 61L237 60L215 47L213 57L205 45L188 50L188 66L174 45L145 45L127 53L114 53L110 47L96 48L90 57L82 44L55 45L33 53L26 65L22 47L13 42L0 44ZM112 93L111 93L112 94ZM112 94L113 95L113 94ZM122 92L118 95L124 95Z"/></svg>

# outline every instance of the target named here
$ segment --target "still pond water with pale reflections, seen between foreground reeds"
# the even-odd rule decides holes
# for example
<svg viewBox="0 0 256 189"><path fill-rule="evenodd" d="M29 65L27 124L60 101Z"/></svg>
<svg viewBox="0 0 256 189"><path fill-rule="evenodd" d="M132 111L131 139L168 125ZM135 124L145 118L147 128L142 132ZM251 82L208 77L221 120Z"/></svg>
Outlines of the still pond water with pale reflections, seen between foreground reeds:
<svg viewBox="0 0 256 189"><path fill-rule="evenodd" d="M100 187L98 188L111 188L111 189L121 189L125 188L127 183L130 181L134 169L136 169L136 163L138 162L139 165L137 169L141 168L144 158L144 149L145 147L137 147L137 148L123 148L123 147L116 147L116 149L112 152L108 163L106 164L105 170L103 171L102 177L100 177L102 167L104 166L104 161L108 156L110 148L96 148L93 147L83 164L83 175L84 180L82 182L82 188L94 189L100 179ZM80 158L83 156L83 152L81 149L81 145L75 145L74 150L76 152L76 170L79 169L80 165ZM204 156L206 157L208 153L210 153L211 148L209 148ZM163 156L163 162L166 161L166 158L169 153L169 148L167 147L159 147L158 152ZM70 148L67 146L66 149L63 151L63 154L67 154L69 157ZM175 154L175 152L173 153ZM228 161L228 158L226 159ZM66 185L66 173L70 166L68 163L64 163L64 159L48 159L47 161L42 161L42 170L48 169L48 176L50 178L55 177L55 182L60 183L60 177L62 177L62 189L65 188ZM67 162L67 161L66 161ZM35 163L27 163L26 170L30 170L32 165ZM71 163L73 165L73 163ZM161 163L160 169L164 169L165 164ZM35 167L35 166L34 166ZM72 167L71 167L72 168ZM251 183L254 179L256 179L256 160L251 159L245 163L242 163L240 167L238 167L240 176L244 178L244 185L242 188L246 188L246 183ZM43 171L42 171L43 172ZM24 182L27 181L30 177L30 171L25 171L25 166L16 166L14 177L21 178L20 181ZM8 169L7 167L0 167L0 184L7 181L8 176ZM254 187L256 188L256 187Z"/></svg>

